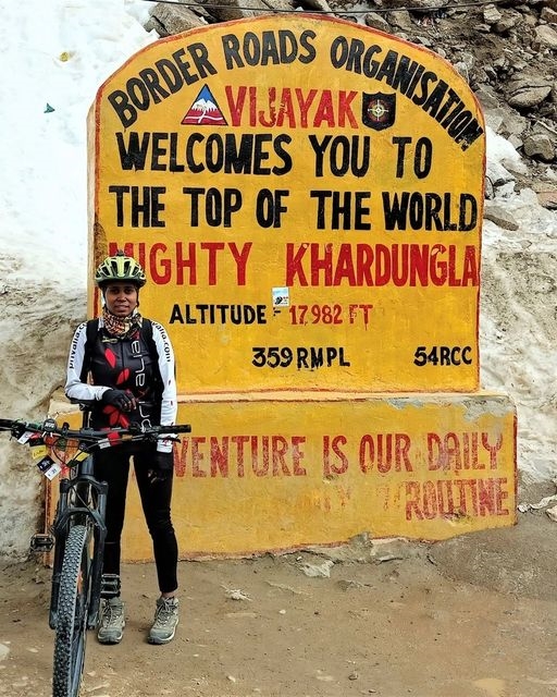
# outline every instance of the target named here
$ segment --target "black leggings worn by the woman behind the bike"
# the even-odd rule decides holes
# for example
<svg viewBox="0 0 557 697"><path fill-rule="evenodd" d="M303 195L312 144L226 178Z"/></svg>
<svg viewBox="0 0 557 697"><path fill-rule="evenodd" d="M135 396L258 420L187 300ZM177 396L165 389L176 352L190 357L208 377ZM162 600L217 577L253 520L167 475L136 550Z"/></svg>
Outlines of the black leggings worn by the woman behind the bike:
<svg viewBox="0 0 557 697"><path fill-rule="evenodd" d="M165 481L150 484L147 473L152 468L154 447L121 445L95 454L95 476L109 485L107 501L107 539L104 574L120 576L121 538L126 508L129 457L134 457L135 476L144 515L152 538L157 577L161 592L177 588L178 546L171 519L172 473Z"/></svg>

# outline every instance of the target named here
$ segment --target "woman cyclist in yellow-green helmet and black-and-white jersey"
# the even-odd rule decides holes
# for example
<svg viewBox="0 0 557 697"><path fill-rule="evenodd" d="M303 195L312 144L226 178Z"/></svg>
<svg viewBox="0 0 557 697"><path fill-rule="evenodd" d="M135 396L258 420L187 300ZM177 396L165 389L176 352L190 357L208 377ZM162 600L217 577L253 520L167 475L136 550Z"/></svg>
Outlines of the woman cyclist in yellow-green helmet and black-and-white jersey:
<svg viewBox="0 0 557 697"><path fill-rule="evenodd" d="M164 328L138 311L139 289L146 283L137 261L117 252L97 268L101 292L99 318L77 327L67 362L65 394L91 403L95 429L131 423L176 423L174 353ZM95 455L95 476L109 485L103 575L115 597L104 599L98 626L101 644L122 640L125 614L120 596L121 537L124 525L129 461L133 457L145 519L152 538L160 589L151 644L174 638L178 623L177 542L171 519L173 452L171 440L131 443Z"/></svg>

